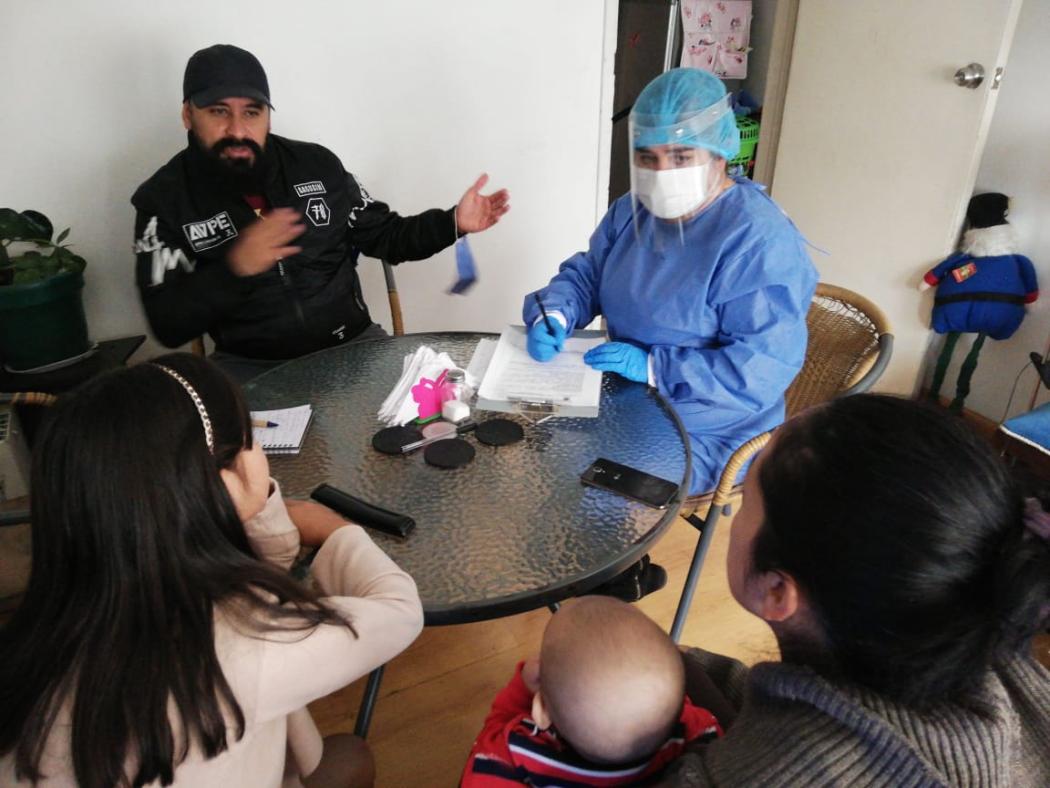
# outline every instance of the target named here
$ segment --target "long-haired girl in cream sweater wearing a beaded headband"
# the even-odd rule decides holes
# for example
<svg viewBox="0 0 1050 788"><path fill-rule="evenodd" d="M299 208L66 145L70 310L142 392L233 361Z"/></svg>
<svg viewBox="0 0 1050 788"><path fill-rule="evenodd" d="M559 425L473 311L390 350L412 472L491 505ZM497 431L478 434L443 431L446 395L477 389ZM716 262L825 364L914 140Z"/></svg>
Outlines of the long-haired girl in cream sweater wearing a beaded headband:
<svg viewBox="0 0 1050 788"><path fill-rule="evenodd" d="M286 506L216 367L173 353L91 381L32 478L0 785L371 785L364 743L322 743L306 705L416 638L415 583L359 526ZM287 574L300 543L323 596Z"/></svg>

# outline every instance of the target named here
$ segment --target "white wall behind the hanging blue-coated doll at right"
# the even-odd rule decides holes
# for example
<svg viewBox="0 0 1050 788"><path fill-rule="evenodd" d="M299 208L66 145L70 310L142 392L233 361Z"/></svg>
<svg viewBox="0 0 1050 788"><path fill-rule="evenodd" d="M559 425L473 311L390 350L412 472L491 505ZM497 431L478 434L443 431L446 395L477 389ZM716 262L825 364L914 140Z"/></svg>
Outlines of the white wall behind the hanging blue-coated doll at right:
<svg viewBox="0 0 1050 788"><path fill-rule="evenodd" d="M1045 353L1050 343L1050 102L1047 75L1050 74L1050 3L1027 0L1021 9L1013 48L1007 61L999 103L988 132L975 191L1001 191L1013 198L1010 224L1018 241L1018 251L1031 257L1038 274L1042 298L1028 308L1028 316L1012 337L989 339L973 374L968 410L999 420L1003 417L1010 389L1028 353ZM969 350L971 337L960 339L941 394L954 394L959 366ZM940 350L940 339L937 341ZM1027 411L1036 389L1035 372L1027 370L1017 386L1010 414ZM1046 400L1046 390L1040 400Z"/></svg>

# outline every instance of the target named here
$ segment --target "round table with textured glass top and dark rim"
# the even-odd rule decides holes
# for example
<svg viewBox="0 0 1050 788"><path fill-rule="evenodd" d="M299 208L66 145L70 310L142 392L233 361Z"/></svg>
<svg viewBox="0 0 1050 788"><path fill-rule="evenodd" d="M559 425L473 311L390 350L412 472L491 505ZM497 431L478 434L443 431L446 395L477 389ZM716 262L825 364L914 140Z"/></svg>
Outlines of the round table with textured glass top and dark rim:
<svg viewBox="0 0 1050 788"><path fill-rule="evenodd" d="M289 361L245 387L253 410L311 403L298 455L273 456L286 496L327 482L411 516L405 538L370 531L415 578L427 624L523 613L576 596L638 560L674 519L689 486L689 438L654 390L605 375L597 418L528 418L475 411L479 422L512 418L525 439L477 450L457 470L433 468L422 451L392 457L372 448L379 407L420 345L464 368L488 334L432 333L353 343ZM655 510L580 482L605 457L669 479L678 497Z"/></svg>

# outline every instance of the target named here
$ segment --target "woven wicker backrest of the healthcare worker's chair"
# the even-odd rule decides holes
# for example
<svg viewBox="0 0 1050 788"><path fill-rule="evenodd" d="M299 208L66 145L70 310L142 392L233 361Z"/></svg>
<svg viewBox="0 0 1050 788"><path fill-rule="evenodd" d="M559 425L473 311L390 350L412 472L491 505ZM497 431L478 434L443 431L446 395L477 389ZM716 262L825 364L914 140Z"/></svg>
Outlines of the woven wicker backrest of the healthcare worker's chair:
<svg viewBox="0 0 1050 788"><path fill-rule="evenodd" d="M866 391L892 352L885 314L844 287L818 284L805 324L805 362L784 394L789 418L833 397Z"/></svg>

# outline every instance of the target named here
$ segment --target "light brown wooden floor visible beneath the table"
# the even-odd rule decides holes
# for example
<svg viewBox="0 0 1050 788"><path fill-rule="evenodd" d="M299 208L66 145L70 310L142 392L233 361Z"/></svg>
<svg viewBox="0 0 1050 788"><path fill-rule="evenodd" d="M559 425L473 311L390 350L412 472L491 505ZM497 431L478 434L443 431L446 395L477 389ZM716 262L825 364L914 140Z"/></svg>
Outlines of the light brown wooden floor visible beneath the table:
<svg viewBox="0 0 1050 788"><path fill-rule="evenodd" d="M733 601L726 583L730 520L715 533L681 642L747 663L776 659L769 628ZM667 568L667 586L638 603L666 629L671 626L696 531L676 520L652 551ZM386 668L369 742L380 788L455 786L496 693L516 663L539 649L550 618L546 608L461 626L429 627ZM311 704L324 734L352 731L364 681Z"/></svg>

